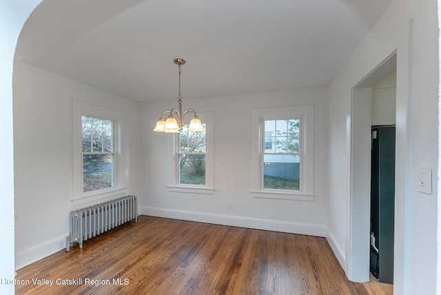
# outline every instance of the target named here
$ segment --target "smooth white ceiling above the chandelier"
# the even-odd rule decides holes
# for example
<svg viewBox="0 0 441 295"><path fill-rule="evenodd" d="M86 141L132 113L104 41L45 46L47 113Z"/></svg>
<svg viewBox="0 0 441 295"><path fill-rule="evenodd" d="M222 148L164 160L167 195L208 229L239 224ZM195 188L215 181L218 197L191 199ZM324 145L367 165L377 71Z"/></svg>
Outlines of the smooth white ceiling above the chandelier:
<svg viewBox="0 0 441 295"><path fill-rule="evenodd" d="M327 85L393 0L44 0L21 61L135 101Z"/></svg>

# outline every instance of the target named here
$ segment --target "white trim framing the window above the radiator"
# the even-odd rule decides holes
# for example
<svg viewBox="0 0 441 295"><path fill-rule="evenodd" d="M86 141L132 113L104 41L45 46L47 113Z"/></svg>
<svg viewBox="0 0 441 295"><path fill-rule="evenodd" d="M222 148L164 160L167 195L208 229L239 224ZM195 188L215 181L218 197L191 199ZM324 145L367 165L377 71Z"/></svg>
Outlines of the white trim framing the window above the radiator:
<svg viewBox="0 0 441 295"><path fill-rule="evenodd" d="M92 116L100 119L112 120L114 122L114 187L108 187L102 190L83 193L82 181L82 152L81 152L81 116ZM72 187L72 205L83 205L103 199L124 196L127 194L126 181L123 177L124 163L122 161L121 150L121 130L124 125L124 113L103 108L98 105L84 103L82 101L72 101L72 167L73 167L73 187Z"/></svg>

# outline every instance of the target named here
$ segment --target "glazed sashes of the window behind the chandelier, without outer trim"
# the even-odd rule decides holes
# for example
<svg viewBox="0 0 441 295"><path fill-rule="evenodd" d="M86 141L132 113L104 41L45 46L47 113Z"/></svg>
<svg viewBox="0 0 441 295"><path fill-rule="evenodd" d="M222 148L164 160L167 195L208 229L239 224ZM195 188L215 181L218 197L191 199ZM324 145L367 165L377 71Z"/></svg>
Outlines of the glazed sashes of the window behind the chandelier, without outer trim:
<svg viewBox="0 0 441 295"><path fill-rule="evenodd" d="M204 129L206 124L202 124ZM183 127L178 139L178 183L205 185L205 152L207 141L204 131L190 131Z"/></svg>

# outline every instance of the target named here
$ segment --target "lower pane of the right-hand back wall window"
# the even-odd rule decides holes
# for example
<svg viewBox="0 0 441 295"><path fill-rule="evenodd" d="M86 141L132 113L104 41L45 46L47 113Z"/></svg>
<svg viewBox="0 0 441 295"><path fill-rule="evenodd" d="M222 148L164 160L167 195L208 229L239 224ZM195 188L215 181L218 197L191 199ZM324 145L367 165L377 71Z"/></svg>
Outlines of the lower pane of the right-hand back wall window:
<svg viewBox="0 0 441 295"><path fill-rule="evenodd" d="M263 156L263 188L300 189L300 156L265 154Z"/></svg>

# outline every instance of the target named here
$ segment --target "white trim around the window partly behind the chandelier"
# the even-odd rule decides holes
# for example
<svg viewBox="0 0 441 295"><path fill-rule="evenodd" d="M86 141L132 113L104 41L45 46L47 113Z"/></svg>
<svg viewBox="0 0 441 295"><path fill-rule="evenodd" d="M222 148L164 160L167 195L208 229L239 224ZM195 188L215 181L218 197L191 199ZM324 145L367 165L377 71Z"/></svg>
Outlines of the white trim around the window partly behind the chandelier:
<svg viewBox="0 0 441 295"><path fill-rule="evenodd" d="M172 185L167 185L167 189L169 192L183 192L183 193L192 193L192 194L214 194L214 183L213 183L213 158L214 158L214 125L213 125L213 113L212 112L198 112L198 118L201 119L202 123L206 124L205 136L207 146L205 152L205 185L188 185L188 184L180 184L178 183L178 136L179 134L175 134L174 136L174 144L173 144L173 172L170 173L169 183L173 183Z"/></svg>

